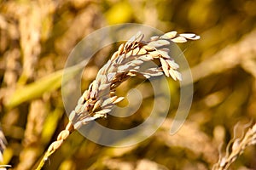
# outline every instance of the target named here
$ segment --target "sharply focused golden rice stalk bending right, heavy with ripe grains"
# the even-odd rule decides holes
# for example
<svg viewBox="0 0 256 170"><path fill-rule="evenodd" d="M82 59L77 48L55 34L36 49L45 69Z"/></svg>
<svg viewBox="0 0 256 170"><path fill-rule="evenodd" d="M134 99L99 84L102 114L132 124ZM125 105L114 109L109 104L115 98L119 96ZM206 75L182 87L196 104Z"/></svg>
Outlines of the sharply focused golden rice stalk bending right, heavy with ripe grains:
<svg viewBox="0 0 256 170"><path fill-rule="evenodd" d="M187 42L187 40L199 38L195 34L177 34L177 31L171 31L160 37L151 37L149 42L144 42L143 34L138 32L130 40L121 44L118 51L112 55L107 64L102 66L96 79L79 98L78 104L69 115L70 122L65 130L59 133L57 140L49 145L37 170L44 166L44 161L61 147L73 130L79 129L90 121L107 117L113 106L124 99L116 96L115 90L128 78L136 76L149 78L165 74L166 77L181 81L181 74L177 71L179 66L169 55L169 48L166 46L171 42ZM140 71L141 65L154 59L160 60L160 67Z"/></svg>

